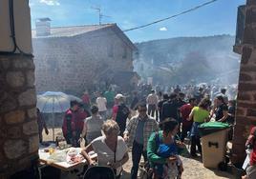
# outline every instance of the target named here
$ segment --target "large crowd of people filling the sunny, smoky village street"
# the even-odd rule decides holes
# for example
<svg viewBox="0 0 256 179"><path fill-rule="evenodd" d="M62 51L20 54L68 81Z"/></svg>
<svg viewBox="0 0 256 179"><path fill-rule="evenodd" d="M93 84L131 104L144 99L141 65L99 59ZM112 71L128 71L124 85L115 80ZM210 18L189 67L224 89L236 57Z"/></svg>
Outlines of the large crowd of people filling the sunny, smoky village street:
<svg viewBox="0 0 256 179"><path fill-rule="evenodd" d="M191 140L191 157L202 157L199 125L210 120L233 125L236 102L228 100L224 88L213 92L209 86L176 86L167 92L142 86L131 95L109 89L92 98L85 91L83 102L72 101L65 112L63 136L74 147L85 140L82 154L89 165L95 164L88 155L94 150L98 165L115 169L117 178L128 161L128 148L132 179L138 176L141 156L155 178L179 178L184 139Z"/></svg>

